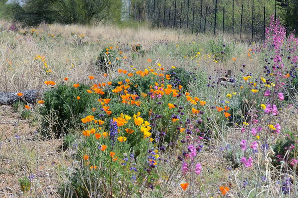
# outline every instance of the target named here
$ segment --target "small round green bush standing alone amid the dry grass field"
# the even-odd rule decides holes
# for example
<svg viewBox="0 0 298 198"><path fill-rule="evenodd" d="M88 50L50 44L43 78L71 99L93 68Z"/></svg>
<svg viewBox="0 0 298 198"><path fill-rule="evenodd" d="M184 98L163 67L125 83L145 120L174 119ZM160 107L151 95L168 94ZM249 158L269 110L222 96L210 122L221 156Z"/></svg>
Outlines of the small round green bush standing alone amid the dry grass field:
<svg viewBox="0 0 298 198"><path fill-rule="evenodd" d="M119 65L121 57L119 52L115 49L104 48L97 56L96 65L100 70L107 72L108 70L115 69Z"/></svg>

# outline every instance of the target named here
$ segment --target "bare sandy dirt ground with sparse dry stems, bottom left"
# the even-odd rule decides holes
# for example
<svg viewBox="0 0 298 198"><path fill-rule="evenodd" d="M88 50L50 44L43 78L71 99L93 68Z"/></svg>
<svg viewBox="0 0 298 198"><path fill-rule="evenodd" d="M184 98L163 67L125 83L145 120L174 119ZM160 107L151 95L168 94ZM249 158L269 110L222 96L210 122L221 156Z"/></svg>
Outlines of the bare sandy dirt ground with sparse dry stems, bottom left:
<svg viewBox="0 0 298 198"><path fill-rule="evenodd" d="M0 198L58 197L57 165L65 163L62 140L44 141L36 130L37 124L22 119L13 107L0 106ZM18 180L25 176L33 185L23 194Z"/></svg>

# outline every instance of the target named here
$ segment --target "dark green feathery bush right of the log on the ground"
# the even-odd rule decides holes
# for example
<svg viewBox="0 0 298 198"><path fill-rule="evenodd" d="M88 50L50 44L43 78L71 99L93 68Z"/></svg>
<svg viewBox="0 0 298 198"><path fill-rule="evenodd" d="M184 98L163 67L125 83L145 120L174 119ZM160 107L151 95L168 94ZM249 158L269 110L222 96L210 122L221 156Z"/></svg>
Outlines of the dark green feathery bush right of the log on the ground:
<svg viewBox="0 0 298 198"><path fill-rule="evenodd" d="M89 94L89 87L80 85L74 88L72 85L58 85L44 94L44 105L40 109L42 115L42 129L44 136L53 135L59 137L62 132L67 133L69 129L79 127L80 115L88 108L96 107L98 96ZM77 99L77 96L80 99Z"/></svg>

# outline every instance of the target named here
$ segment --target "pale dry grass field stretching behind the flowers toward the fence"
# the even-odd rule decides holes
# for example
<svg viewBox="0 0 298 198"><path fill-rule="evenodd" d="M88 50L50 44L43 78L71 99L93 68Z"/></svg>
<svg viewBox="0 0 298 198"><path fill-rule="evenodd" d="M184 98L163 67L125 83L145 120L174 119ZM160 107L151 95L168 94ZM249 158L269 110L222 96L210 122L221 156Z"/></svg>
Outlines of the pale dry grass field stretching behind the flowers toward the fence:
<svg viewBox="0 0 298 198"><path fill-rule="evenodd" d="M0 22L0 29L7 30L10 24ZM0 32L0 90L22 91L27 89L41 89L46 80L56 82L63 81L68 77L73 82L84 82L88 75L95 76L96 80L102 82L102 73L96 69L96 57L101 49L113 46L123 51L127 58L122 61L122 68L132 70L130 65L136 69L147 67L147 59L157 61L164 68L197 67L198 59L183 58L183 55L169 54L169 46L183 46L195 42L201 49L202 60L199 60L202 70L214 73L214 69L231 69L233 73L239 69L238 65L247 62L247 44L235 43L235 52L232 57L237 60L228 60L225 64L215 63L213 57L209 57L206 35L185 34L178 30L149 29L146 26L135 28L119 28L113 25L99 25L85 27L80 25L47 25L41 24L35 30L37 35L30 34L33 28L20 28L20 32L27 31L26 36L18 32ZM79 35L84 35L80 44ZM53 38L54 37L54 38ZM225 38L228 41L229 37ZM132 58L132 46L141 44L148 53L144 57L135 60ZM181 47L177 47L181 48ZM173 49L171 49L173 51ZM183 50L181 50L183 52ZM203 55L204 54L204 55ZM42 68L43 62L34 59L36 55L44 56L48 69ZM207 57L204 59L204 56ZM258 57L253 57L247 64L247 68L254 68ZM231 63L232 62L232 63ZM111 72L115 74L116 72ZM113 75L111 75L113 77ZM107 79L109 80L109 79Z"/></svg>

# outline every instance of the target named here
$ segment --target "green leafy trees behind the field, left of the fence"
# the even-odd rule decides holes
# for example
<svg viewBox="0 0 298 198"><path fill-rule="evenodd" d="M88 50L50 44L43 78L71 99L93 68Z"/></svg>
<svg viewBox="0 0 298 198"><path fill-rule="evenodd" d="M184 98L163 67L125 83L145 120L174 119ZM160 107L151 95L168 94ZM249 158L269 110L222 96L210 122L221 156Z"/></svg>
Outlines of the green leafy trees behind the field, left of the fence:
<svg viewBox="0 0 298 198"><path fill-rule="evenodd" d="M25 0L23 5L13 3L13 20L27 26L41 22L62 24L90 24L113 19L112 11L120 13L120 0ZM119 16L116 14L116 18ZM114 18L115 18L114 17Z"/></svg>

